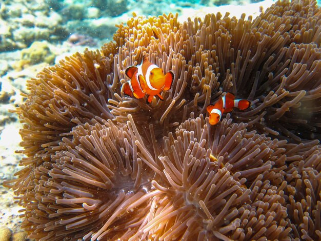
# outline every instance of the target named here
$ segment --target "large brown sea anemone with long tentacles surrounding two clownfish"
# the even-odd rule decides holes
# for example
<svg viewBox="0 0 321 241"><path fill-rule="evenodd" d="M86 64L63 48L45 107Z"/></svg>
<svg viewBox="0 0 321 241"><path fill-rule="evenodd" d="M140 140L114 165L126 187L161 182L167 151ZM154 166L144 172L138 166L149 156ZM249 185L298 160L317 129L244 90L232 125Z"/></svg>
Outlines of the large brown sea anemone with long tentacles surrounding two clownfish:
<svg viewBox="0 0 321 241"><path fill-rule="evenodd" d="M133 16L101 51L30 79L17 108L25 168L6 182L37 240L321 239L321 10ZM172 89L125 97L143 54ZM222 92L247 111L209 124Z"/></svg>

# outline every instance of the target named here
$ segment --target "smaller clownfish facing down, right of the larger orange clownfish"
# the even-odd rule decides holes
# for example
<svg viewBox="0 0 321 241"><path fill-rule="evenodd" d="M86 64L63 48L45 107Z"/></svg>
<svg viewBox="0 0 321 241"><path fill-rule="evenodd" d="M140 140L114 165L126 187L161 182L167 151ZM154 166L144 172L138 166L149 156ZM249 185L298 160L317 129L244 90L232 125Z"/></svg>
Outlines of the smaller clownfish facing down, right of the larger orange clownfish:
<svg viewBox="0 0 321 241"><path fill-rule="evenodd" d="M214 105L209 105L206 110L210 114L210 124L216 125L223 113L227 113L237 107L239 110L246 110L250 107L247 99L235 99L232 93L223 93Z"/></svg>

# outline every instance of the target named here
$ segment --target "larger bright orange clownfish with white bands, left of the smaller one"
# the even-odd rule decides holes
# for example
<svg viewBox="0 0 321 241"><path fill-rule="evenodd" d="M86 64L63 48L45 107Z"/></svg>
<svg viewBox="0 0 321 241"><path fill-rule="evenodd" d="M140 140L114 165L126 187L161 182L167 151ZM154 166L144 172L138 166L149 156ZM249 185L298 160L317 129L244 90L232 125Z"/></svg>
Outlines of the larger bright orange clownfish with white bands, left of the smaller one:
<svg viewBox="0 0 321 241"><path fill-rule="evenodd" d="M155 95L163 101L160 92L170 90L175 77L172 71L164 74L163 69L150 63L146 55L143 56L141 65L130 66L125 73L130 81L124 84L124 94L136 99L148 95L147 103L151 103Z"/></svg>

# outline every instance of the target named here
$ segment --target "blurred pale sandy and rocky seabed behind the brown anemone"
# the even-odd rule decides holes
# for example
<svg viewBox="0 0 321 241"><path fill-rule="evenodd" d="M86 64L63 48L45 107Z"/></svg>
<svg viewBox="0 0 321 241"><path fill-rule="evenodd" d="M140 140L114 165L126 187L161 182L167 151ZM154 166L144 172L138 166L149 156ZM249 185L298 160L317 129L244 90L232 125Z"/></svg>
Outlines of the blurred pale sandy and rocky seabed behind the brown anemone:
<svg viewBox="0 0 321 241"><path fill-rule="evenodd" d="M23 124L10 110L24 103L28 79L43 68L55 65L75 52L100 49L112 41L115 25L124 23L135 12L137 16L178 13L184 22L196 16L220 11L223 15L253 18L274 1L250 0L0 0L0 241L25 240L11 189L4 180L14 178L23 154L19 129ZM318 3L319 4L319 3ZM11 239L10 239L11 238Z"/></svg>

